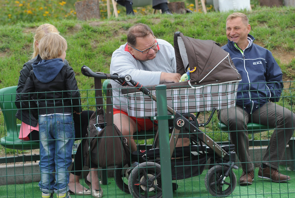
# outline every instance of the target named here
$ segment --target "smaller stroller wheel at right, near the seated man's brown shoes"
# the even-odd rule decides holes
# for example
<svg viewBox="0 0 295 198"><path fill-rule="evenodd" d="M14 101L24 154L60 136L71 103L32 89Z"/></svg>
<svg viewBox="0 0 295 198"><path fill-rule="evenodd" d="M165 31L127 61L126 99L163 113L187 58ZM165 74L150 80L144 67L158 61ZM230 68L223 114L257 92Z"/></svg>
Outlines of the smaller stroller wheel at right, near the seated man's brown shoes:
<svg viewBox="0 0 295 198"><path fill-rule="evenodd" d="M225 197L234 191L237 185L237 178L232 170L230 170L229 176L223 181L223 175L228 169L228 166L222 165L216 165L209 169L205 176L205 186L211 195Z"/></svg>

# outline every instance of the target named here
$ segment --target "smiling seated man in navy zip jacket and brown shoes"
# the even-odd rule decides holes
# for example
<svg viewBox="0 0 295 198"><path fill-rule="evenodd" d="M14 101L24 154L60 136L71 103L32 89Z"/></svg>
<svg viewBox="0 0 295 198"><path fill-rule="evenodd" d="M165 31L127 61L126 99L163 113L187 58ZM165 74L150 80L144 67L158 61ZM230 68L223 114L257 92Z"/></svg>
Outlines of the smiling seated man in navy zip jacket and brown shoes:
<svg viewBox="0 0 295 198"><path fill-rule="evenodd" d="M219 112L221 122L228 125L230 140L242 163L240 185L250 185L254 179L254 165L249 154L247 124L259 123L276 128L269 139L258 177L274 182L291 178L279 173L286 145L293 135L295 114L277 105L283 87L282 72L271 52L253 43L251 26L243 13L233 13L226 19L228 43L222 48L230 53L242 76L237 92L236 107Z"/></svg>

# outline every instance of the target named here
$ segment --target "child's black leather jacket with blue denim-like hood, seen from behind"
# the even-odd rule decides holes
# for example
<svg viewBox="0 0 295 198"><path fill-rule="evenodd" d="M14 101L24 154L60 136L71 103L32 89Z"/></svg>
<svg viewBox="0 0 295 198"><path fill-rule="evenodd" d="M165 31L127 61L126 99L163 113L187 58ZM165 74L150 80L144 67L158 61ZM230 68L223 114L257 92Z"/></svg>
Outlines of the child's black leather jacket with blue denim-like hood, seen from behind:
<svg viewBox="0 0 295 198"><path fill-rule="evenodd" d="M39 115L81 112L80 92L75 72L62 59L32 63L33 70L20 94L22 108L38 108ZM37 93L37 101L28 101Z"/></svg>

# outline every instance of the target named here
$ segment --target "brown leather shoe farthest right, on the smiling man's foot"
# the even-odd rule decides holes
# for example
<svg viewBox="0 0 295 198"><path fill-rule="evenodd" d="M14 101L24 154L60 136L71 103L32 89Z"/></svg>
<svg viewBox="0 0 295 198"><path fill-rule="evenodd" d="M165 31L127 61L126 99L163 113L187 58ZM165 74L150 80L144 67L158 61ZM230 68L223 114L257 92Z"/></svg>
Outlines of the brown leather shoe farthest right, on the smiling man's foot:
<svg viewBox="0 0 295 198"><path fill-rule="evenodd" d="M290 176L281 174L278 169L272 167L262 168L259 167L258 177L263 179L269 179L274 182L288 181L291 180Z"/></svg>

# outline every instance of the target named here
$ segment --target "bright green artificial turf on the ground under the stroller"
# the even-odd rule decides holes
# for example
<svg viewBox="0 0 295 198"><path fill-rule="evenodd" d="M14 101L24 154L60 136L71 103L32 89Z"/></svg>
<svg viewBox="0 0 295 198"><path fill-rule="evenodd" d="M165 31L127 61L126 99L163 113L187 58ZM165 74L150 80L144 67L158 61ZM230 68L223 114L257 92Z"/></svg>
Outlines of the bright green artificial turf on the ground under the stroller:
<svg viewBox="0 0 295 198"><path fill-rule="evenodd" d="M258 178L258 168L255 169L255 178L252 185L240 186L238 185L238 178L242 174L242 169L235 170L234 173L237 177L237 185L233 193L228 197L241 197L241 198L285 198L285 197L295 197L295 175L294 171L286 170L284 166L280 167L281 173L288 174L292 179L287 182L275 183L269 180L263 180ZM184 180L177 180L179 185L177 191L173 192L173 197L188 198L188 197L214 197L212 196L205 187L204 179L207 173L207 169L199 176L187 178ZM175 181L173 181L175 182ZM84 182L81 183L85 185ZM85 185L85 187L87 187ZM102 185L104 192L103 197L108 198L132 198L132 195L124 193L115 184L112 177L108 178L108 184ZM0 197L4 198L34 198L41 197L41 192L38 187L38 182L28 183L28 184L18 184L18 185L3 185L0 186ZM54 197L56 195L54 194ZM72 198L91 198L92 196L75 196L71 195Z"/></svg>

